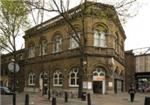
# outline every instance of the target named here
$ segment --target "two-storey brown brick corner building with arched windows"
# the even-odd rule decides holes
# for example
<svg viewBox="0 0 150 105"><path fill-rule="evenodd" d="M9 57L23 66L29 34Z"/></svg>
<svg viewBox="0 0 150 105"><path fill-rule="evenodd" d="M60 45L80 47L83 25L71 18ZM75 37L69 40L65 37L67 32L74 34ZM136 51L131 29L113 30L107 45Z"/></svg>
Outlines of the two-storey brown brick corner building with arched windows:
<svg viewBox="0 0 150 105"><path fill-rule="evenodd" d="M106 94L124 90L126 39L111 5L88 2L85 12L84 91ZM81 7L69 10L71 24L82 36ZM61 16L25 32L24 91L78 93L80 52L76 34Z"/></svg>

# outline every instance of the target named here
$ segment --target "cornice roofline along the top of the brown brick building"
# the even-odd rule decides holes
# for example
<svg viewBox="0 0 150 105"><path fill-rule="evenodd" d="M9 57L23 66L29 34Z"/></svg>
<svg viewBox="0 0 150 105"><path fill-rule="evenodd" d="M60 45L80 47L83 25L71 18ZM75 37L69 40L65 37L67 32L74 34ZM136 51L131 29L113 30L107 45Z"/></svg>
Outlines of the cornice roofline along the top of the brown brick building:
<svg viewBox="0 0 150 105"><path fill-rule="evenodd" d="M82 5L84 5L84 4L85 4L85 3L83 3L83 4L81 4L81 5L78 5L78 6L74 7L74 8L72 8L72 9L70 9L69 11L67 11L67 13L69 13L69 15L74 15L74 14L77 14L77 13L81 12L81 11L80 11L80 9L81 9L80 7L81 7ZM111 8L112 10L114 10L114 12L115 12L115 14L116 14L116 16L117 16L117 12L116 12L114 6L112 6L112 5L102 4L102 3L97 3L97 2L90 2L90 1L87 1L87 5L95 5L95 6L97 6L97 7L103 6L103 7ZM65 14L65 13L66 13L66 12L64 12L64 14ZM37 31L40 31L40 30L41 30L41 31L47 30L47 29L49 29L49 28L47 28L47 27L58 25L58 22L61 22L61 23L62 23L63 21L64 21L63 17L62 17L61 15L57 15L57 16L55 16L54 18L51 18L51 19L49 19L49 20L47 20L47 21L45 21L45 22L43 22L43 23L41 23L41 24L39 24L39 25L36 25L36 26L34 26L34 27L32 27L32 28L26 30L26 31L25 31L25 34L26 34L26 35L24 36L24 38L26 38L26 36L28 36L28 35L32 35L34 32L37 32ZM118 16L117 16L117 21L118 21L118 22L114 22L114 23L117 24L117 26L119 27L120 31L121 31L122 34L123 34L123 37L126 38L124 29L123 29L123 27L122 27L122 25L121 25L121 23L120 23L120 20L119 20L119 17L118 17Z"/></svg>

